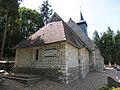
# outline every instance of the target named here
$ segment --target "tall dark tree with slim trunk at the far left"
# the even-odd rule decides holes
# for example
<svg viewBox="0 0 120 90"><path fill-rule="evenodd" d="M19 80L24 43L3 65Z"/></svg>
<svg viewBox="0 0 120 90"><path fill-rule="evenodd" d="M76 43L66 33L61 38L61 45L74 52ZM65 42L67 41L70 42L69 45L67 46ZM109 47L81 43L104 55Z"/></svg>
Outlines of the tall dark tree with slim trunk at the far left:
<svg viewBox="0 0 120 90"><path fill-rule="evenodd" d="M18 17L18 7L19 7L18 0L9 0L9 1L0 0L0 16L2 16L2 18L4 19L3 21L5 21L4 35L2 39L2 45L1 45L1 55L0 55L1 59L3 57L6 33L8 29L11 29L14 27L14 23L16 21L16 18Z"/></svg>

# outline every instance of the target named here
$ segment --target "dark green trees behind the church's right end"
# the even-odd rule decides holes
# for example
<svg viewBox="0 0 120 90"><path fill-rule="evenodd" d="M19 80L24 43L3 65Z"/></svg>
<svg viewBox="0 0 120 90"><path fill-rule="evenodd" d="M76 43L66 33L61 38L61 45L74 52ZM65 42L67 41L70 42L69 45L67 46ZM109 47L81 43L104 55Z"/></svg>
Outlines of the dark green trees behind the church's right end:
<svg viewBox="0 0 120 90"><path fill-rule="evenodd" d="M93 34L93 41L100 48L101 54L104 57L105 64L108 64L109 61L114 64L120 64L120 32L117 31L117 34L114 34L113 30L108 27L106 32L103 32L99 36L98 32L95 31Z"/></svg>

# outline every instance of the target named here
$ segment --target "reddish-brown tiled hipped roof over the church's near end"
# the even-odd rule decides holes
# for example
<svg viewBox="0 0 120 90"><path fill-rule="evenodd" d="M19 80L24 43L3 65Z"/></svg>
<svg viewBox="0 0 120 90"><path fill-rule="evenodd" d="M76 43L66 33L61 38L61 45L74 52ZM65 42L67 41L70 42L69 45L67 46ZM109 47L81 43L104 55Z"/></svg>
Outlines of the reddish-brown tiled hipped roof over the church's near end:
<svg viewBox="0 0 120 90"><path fill-rule="evenodd" d="M16 48L39 46L59 41L67 41L79 48L84 45L71 28L61 20L48 23L28 39L16 45Z"/></svg>

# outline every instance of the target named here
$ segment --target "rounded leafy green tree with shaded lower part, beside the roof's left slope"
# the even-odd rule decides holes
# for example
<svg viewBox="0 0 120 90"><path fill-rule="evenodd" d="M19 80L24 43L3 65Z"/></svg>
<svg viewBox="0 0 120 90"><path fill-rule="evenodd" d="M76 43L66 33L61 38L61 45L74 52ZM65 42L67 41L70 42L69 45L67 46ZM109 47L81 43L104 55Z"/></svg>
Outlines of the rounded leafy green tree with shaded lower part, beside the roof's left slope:
<svg viewBox="0 0 120 90"><path fill-rule="evenodd" d="M19 18L16 19L16 23L14 23L15 27L12 30L7 30L4 50L5 57L14 57L15 50L11 48L29 37L44 25L40 13L36 10L20 7L18 11Z"/></svg>

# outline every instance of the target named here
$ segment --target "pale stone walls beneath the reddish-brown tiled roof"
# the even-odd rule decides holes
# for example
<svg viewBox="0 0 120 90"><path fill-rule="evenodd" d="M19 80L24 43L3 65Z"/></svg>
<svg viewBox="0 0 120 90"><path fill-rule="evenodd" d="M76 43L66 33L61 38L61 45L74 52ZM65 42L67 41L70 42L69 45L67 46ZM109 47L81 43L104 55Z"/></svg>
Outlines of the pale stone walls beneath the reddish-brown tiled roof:
<svg viewBox="0 0 120 90"><path fill-rule="evenodd" d="M38 49L38 60L35 57L36 49ZM69 83L77 79L80 74L81 77L85 77L89 72L89 51L86 48L78 49L67 42L18 48L14 70Z"/></svg>

